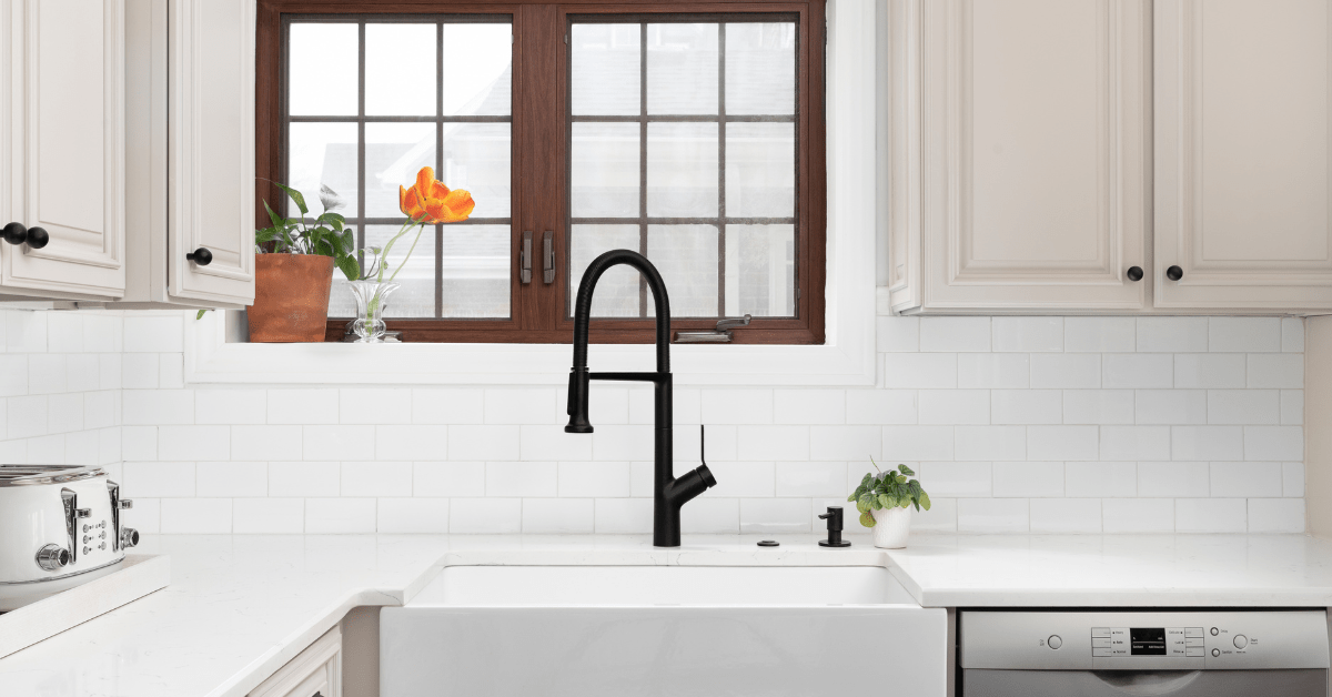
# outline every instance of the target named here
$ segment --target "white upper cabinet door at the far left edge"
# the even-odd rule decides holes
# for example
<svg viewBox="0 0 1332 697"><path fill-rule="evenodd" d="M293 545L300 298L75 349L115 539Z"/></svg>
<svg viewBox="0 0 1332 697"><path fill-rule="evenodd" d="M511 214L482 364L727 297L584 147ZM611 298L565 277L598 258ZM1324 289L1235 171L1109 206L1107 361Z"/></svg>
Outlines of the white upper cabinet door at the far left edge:
<svg viewBox="0 0 1332 697"><path fill-rule="evenodd" d="M125 291L125 7L73 5L0 3L0 295Z"/></svg>

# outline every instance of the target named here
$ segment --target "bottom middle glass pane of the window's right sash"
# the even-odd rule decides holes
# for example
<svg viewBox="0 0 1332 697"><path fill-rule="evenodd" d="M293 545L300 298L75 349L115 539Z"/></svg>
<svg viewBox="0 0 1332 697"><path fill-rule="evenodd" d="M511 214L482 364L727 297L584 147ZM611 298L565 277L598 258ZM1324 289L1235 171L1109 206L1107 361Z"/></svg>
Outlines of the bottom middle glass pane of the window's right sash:
<svg viewBox="0 0 1332 697"><path fill-rule="evenodd" d="M671 317L717 316L717 225L649 225L647 259L666 281ZM650 300L647 315L657 316Z"/></svg>

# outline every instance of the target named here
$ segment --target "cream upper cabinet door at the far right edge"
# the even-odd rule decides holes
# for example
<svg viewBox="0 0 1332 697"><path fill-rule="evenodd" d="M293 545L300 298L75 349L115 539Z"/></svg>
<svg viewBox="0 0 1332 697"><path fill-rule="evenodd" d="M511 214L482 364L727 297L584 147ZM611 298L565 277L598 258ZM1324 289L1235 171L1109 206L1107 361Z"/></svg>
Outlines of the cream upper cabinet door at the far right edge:
<svg viewBox="0 0 1332 697"><path fill-rule="evenodd" d="M1332 308L1327 0L1155 15L1156 307Z"/></svg>

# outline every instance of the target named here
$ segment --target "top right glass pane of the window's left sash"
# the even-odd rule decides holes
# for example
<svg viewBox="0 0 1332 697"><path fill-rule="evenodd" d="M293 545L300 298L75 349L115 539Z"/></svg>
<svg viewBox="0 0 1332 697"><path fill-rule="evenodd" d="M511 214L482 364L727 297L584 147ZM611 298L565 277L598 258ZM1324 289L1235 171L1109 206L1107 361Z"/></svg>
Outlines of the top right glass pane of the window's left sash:
<svg viewBox="0 0 1332 697"><path fill-rule="evenodd" d="M434 39L430 40L430 47L434 47ZM444 25L445 116L509 116L511 84L511 25Z"/></svg>

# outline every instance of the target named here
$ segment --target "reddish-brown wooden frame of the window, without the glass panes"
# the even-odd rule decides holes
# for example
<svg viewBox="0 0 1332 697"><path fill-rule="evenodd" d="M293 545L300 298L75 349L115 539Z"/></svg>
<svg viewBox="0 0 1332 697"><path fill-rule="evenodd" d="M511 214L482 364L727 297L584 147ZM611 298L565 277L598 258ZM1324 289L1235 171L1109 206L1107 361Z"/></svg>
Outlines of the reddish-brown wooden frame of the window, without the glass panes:
<svg viewBox="0 0 1332 697"><path fill-rule="evenodd" d="M735 332L735 344L822 344L825 341L827 176L825 133L825 1L663 3L661 0L583 0L555 4L526 0L258 0L256 56L256 197L273 200L270 181L282 181L282 15L505 15L513 21L513 200L511 200L511 317L503 320L388 320L412 343L529 343L559 344L573 339L567 317L569 268L569 51L565 36L570 16L585 15L743 15L781 13L798 17L797 45L797 300L794 319L754 319ZM554 77L554 79L551 79ZM438 147L438 144L437 144ZM554 193L553 193L554 192ZM258 207L256 225L266 225ZM543 231L554 231L557 279L541 281L518 275L522 231L534 232L539 249ZM438 235L438 233L437 233ZM535 249L534 249L535 252ZM534 256L539 256L535 255ZM711 329L717 320L674 319L675 331ZM341 339L346 320L329 320L326 339ZM654 336L651 320L597 319L594 343L642 344Z"/></svg>

